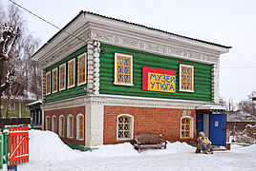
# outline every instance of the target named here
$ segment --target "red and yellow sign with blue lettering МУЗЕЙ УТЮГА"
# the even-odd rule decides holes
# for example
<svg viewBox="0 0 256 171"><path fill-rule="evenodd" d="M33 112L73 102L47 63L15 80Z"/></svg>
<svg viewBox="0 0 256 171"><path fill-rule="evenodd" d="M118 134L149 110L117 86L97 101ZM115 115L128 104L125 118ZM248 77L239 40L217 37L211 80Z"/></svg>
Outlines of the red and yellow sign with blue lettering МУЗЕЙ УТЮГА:
<svg viewBox="0 0 256 171"><path fill-rule="evenodd" d="M176 71L143 66L142 82L143 90L174 93Z"/></svg>

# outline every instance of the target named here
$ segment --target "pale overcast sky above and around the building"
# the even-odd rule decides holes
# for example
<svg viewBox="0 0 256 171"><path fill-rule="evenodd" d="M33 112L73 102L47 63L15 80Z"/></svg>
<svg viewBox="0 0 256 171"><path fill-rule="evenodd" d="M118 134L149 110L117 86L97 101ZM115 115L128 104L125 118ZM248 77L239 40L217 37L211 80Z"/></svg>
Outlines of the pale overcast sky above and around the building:
<svg viewBox="0 0 256 171"><path fill-rule="evenodd" d="M0 0L1 1L1 0ZM2 0L5 5L9 0ZM220 90L240 101L256 90L255 0L16 0L63 28L80 10L232 47L221 55ZM58 30L22 10L41 46Z"/></svg>

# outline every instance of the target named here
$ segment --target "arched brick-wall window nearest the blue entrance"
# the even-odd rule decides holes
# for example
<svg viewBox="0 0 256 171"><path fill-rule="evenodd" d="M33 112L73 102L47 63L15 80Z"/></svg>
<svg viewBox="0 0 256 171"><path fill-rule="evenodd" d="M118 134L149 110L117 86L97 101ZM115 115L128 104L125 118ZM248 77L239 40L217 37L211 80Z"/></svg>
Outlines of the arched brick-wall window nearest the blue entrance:
<svg viewBox="0 0 256 171"><path fill-rule="evenodd" d="M181 117L181 139L193 139L193 118Z"/></svg>

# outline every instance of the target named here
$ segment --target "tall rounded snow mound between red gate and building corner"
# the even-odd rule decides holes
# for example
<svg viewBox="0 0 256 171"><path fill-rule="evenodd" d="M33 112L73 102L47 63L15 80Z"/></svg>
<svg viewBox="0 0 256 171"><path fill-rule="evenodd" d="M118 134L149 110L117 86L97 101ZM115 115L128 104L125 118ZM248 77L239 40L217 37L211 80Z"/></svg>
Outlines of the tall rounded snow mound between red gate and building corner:
<svg viewBox="0 0 256 171"><path fill-rule="evenodd" d="M81 155L51 131L30 130L30 161L63 161Z"/></svg>

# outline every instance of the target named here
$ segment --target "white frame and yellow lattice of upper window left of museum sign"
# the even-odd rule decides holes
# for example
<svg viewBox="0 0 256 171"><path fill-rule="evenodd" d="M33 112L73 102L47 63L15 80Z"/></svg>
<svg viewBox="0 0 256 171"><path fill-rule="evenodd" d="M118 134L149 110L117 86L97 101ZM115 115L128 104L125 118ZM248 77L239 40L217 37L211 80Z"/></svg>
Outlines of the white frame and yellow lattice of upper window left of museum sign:
<svg viewBox="0 0 256 171"><path fill-rule="evenodd" d="M130 66L128 66L130 68L129 70L129 74L125 74L124 72L120 73L120 75L129 75L130 76L130 82L129 83L125 83L124 81L122 82L118 82L117 81L117 58L123 58L123 59L130 59ZM124 66L124 65L120 65L120 66ZM132 55L128 55L128 54L122 54L122 53L115 53L115 82L114 85L134 85L133 84L133 56Z"/></svg>

